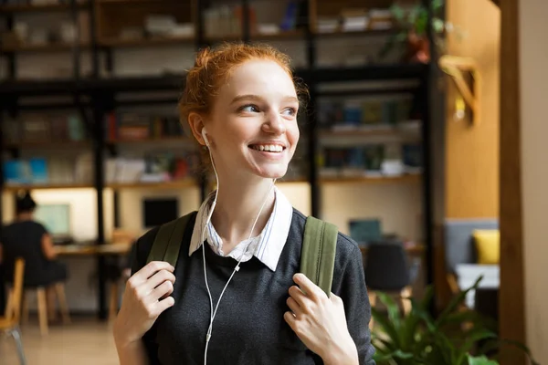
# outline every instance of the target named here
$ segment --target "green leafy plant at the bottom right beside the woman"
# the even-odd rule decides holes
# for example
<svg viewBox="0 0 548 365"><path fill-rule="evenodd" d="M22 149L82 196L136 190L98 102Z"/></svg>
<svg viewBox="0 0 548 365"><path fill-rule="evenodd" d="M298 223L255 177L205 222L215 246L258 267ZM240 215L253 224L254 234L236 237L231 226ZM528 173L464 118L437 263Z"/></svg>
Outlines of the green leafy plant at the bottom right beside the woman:
<svg viewBox="0 0 548 365"><path fill-rule="evenodd" d="M433 318L428 306L433 298L433 287L427 287L422 301L411 300L411 312L404 317L395 301L385 293L377 293L388 315L372 308L372 315L379 330L372 333L376 349L375 360L379 365L498 365L497 360L486 354L501 343L493 330L496 324L483 318L476 311L463 309L462 303L470 290L476 289L481 277L467 290L454 297L443 312ZM484 342L478 349L478 343ZM525 351L532 365L529 349L511 343Z"/></svg>

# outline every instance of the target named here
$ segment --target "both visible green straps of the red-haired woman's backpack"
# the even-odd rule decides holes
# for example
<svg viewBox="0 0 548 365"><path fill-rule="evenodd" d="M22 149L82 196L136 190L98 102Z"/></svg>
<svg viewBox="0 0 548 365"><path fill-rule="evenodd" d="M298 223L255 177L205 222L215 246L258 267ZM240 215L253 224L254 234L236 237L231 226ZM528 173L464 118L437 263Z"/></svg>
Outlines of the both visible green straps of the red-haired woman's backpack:
<svg viewBox="0 0 548 365"><path fill-rule="evenodd" d="M166 261L172 266L177 263L184 231L190 218L196 212L186 214L162 224L154 238L147 263ZM336 225L326 223L312 216L307 217L300 251L300 272L327 294L331 295L333 266L339 230Z"/></svg>

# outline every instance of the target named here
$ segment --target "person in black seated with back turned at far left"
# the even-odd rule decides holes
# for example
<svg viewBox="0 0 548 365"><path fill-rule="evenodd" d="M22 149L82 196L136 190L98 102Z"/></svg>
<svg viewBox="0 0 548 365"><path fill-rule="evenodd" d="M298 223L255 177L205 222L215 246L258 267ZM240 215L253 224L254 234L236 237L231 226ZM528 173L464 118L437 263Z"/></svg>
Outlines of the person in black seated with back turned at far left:
<svg viewBox="0 0 548 365"><path fill-rule="evenodd" d="M53 309L54 285L67 280L67 267L56 260L57 254L46 227L34 221L36 206L30 193L17 195L16 220L6 225L0 236L0 261L4 266L5 282L11 283L16 258L24 258L25 287L46 287L48 308Z"/></svg>

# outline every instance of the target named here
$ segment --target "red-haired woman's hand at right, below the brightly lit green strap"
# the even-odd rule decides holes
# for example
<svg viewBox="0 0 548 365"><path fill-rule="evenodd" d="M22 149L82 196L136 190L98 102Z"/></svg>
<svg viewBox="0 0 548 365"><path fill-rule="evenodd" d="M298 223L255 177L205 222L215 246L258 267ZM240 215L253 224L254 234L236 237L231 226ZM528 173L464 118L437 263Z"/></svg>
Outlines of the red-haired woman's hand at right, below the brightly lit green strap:
<svg viewBox="0 0 548 365"><path fill-rule="evenodd" d="M291 311L284 314L286 322L325 364L358 364L342 299L334 294L327 297L303 274L296 274L293 280L299 287L290 287L287 303Z"/></svg>

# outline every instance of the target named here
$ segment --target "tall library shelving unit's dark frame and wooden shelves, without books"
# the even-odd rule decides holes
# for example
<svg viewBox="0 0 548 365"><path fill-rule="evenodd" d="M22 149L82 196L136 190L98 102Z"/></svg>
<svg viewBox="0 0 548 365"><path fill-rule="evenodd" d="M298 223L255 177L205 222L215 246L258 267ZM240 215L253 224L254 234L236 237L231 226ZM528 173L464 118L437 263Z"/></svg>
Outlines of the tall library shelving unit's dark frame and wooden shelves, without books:
<svg viewBox="0 0 548 365"><path fill-rule="evenodd" d="M321 216L321 186L336 183L421 183L424 244L427 255L427 283L433 282L432 234L431 234L431 191L430 191L430 156L429 156L429 104L425 101L430 93L431 64L421 63L375 63L365 62L359 65L336 65L335 67L319 62L319 44L325 40L351 37L363 39L376 36L390 36L395 33L392 28L364 28L359 30L342 30L340 28L325 32L321 22L330 16L339 16L345 8L388 8L394 0L287 0L285 25L272 32L258 26L259 15L252 11L255 2L261 0L58 0L58 2L33 4L32 0L0 0L0 26L5 27L5 35L0 43L0 61L6 65L5 78L0 79L0 134L5 136L7 119L16 119L22 112L33 111L46 113L57 109L71 109L78 113L86 131L85 141L5 141L0 139L0 151L9 158L17 158L22 151L47 151L52 148L65 148L67 151L81 149L92 155L92 179L86 183L74 184L38 184L38 185L5 185L4 163L0 167L0 187L3 193L14 193L20 188L28 189L64 189L92 188L97 191L97 245L105 244L105 227L103 217L103 194L110 188L114 194L114 209L117 209L117 192L127 189L184 189L199 186L202 198L205 196L207 182L205 176L195 179L166 183L112 183L105 176L105 161L116 157L124 144L143 143L143 141L109 140L105 119L109 113L121 108L135 106L174 106L184 87L184 71L160 72L155 75L119 75L116 72L116 55L120 49L149 49L155 52L163 47L188 49L188 58L192 59L195 50L223 41L240 40L243 42L300 42L304 49L303 63L295 68L295 74L309 87L310 102L306 122L301 126L301 142L305 144L304 158L306 174L289 178L288 182L309 183L311 191L311 214ZM406 0L422 3L428 9L431 19L429 0ZM264 3L264 1L263 1ZM267 2L269 3L269 2ZM223 5L226 5L223 7ZM227 16L230 6L232 17L215 21L214 16ZM291 8L293 6L293 8ZM221 8L219 10L218 8ZM68 24L76 36L70 40L52 42L25 43L16 34L17 17L29 14L56 13L68 16ZM282 12L283 13L283 12ZM162 19L154 18L158 14L167 14L176 22L175 30L170 36L153 35L143 32L141 27L149 22L155 29L162 29ZM151 17L152 16L152 17ZM282 14L283 16L283 14ZM85 19L85 20L83 20ZM213 20L212 20L213 19ZM219 18L220 19L220 18ZM235 20L236 19L236 20ZM291 21L292 19L292 21ZM220 28L212 27L218 23ZM82 24L84 26L82 26ZM430 24L430 23L428 23ZM70 26L68 26L70 28ZM220 29L220 30L219 30ZM161 32L160 32L161 33ZM429 33L430 34L430 33ZM70 29L68 31L70 36ZM60 36L62 38L62 36ZM59 78L22 78L18 75L18 57L42 54L68 53L72 61L68 76ZM88 68L82 64L88 63ZM44 68L50 65L40 65ZM189 65L192 66L192 65ZM381 88L367 90L329 91L321 88L329 84L375 82L393 80L401 83L399 91L410 91L415 98L422 100L418 105L420 124L418 135L422 147L422 169L417 174L384 177L327 177L321 176L318 163L318 151L323 141L336 138L369 138L391 137L397 134L394 130L325 130L319 127L319 99L353 95L374 95L384 93ZM416 85L406 86L406 81L415 81ZM396 88L397 89L397 88ZM393 90L393 92L395 92ZM163 141L155 139L155 142ZM178 137L167 137L166 141L178 141ZM146 141L144 141L146 142ZM144 143L146 144L146 143ZM2 194L0 194L1 199ZM0 202L1 203L1 202ZM116 216L117 214L114 214ZM2 218L0 212L0 219ZM116 218L115 218L116 224ZM105 261L97 258L99 280L99 316L106 317L105 277L102 274Z"/></svg>

